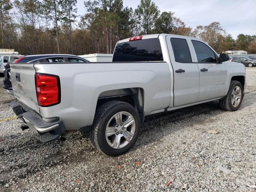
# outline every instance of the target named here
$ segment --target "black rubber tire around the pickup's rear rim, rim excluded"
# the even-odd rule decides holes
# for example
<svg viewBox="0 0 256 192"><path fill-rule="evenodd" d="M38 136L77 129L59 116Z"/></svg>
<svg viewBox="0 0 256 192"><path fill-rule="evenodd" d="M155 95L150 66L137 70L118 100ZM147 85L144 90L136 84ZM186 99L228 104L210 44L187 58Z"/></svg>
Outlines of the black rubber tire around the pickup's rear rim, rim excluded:
<svg viewBox="0 0 256 192"><path fill-rule="evenodd" d="M114 114L118 112L128 112L130 113L134 120L135 120L135 132L134 135L126 146L123 148L115 149L112 148L107 140L106 140L106 126L108 124L108 121L114 116ZM96 115L94 118L94 122L92 125L92 130L91 130L91 141L92 144L102 153L109 155L109 156L119 156L122 155L132 146L134 146L137 138L138 138L138 133L140 132L140 116L138 114L138 111L130 104L125 103L125 102L120 102L120 101L110 101L104 103L102 106L96 110Z"/></svg>

